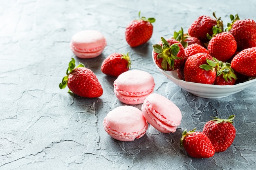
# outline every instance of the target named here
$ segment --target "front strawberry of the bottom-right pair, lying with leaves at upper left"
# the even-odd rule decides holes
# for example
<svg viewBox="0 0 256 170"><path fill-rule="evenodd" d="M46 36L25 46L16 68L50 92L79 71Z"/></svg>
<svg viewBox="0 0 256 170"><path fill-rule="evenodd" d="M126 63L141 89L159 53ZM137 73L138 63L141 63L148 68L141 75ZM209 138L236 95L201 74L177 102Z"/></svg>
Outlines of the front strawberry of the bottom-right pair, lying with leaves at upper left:
<svg viewBox="0 0 256 170"><path fill-rule="evenodd" d="M215 149L209 138L202 132L195 132L195 128L189 132L183 131L180 145L191 157L209 158L215 154Z"/></svg>

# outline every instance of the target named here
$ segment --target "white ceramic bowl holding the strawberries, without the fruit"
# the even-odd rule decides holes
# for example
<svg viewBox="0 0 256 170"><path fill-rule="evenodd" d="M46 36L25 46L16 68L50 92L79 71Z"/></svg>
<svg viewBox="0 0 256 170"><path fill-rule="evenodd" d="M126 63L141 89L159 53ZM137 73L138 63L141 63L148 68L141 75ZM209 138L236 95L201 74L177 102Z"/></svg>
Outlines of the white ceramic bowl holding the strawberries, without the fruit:
<svg viewBox="0 0 256 170"><path fill-rule="evenodd" d="M152 57L153 57L153 52L152 52ZM155 63L154 57L153 57L153 61ZM158 66L157 68L159 69L160 73L165 75L173 83L177 84L184 90L198 97L203 97L208 99L217 99L217 98L227 97L229 95L242 91L243 89L251 86L256 82L256 77L253 77L252 79L247 80L246 82L242 82L235 85L214 85L214 84L193 83L193 82L186 82L184 80L179 79L177 75L177 71L164 71Z"/></svg>

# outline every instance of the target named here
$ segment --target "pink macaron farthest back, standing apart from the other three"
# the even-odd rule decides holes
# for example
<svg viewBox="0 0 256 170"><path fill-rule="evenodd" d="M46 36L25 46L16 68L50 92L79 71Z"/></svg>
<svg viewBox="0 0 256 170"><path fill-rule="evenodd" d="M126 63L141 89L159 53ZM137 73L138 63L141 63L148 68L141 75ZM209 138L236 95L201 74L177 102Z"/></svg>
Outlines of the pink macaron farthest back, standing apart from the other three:
<svg viewBox="0 0 256 170"><path fill-rule="evenodd" d="M105 37L96 30L84 30L75 33L70 42L70 48L79 58L99 56L107 45Z"/></svg>

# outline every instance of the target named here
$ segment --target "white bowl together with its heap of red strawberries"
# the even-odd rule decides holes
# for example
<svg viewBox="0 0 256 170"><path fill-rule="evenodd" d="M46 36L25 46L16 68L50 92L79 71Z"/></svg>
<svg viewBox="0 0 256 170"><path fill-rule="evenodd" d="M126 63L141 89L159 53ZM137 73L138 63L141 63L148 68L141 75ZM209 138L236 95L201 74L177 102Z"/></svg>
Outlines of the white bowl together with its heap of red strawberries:
<svg viewBox="0 0 256 170"><path fill-rule="evenodd" d="M188 33L153 45L152 57L159 71L190 93L220 98L256 82L256 22L230 15L231 23L207 15L198 17Z"/></svg>

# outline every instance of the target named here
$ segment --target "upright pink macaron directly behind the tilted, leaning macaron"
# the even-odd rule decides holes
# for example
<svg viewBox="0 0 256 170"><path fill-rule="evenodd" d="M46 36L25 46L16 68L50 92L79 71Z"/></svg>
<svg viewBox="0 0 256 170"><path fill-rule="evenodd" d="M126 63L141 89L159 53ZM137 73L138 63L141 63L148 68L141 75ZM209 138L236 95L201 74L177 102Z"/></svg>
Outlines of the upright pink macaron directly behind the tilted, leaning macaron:
<svg viewBox="0 0 256 170"><path fill-rule="evenodd" d="M125 104L141 104L153 93L155 82L146 71L130 70L120 74L114 81L114 92Z"/></svg>

